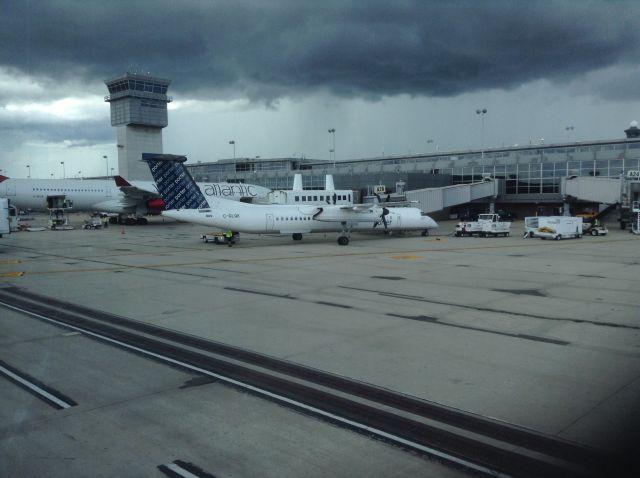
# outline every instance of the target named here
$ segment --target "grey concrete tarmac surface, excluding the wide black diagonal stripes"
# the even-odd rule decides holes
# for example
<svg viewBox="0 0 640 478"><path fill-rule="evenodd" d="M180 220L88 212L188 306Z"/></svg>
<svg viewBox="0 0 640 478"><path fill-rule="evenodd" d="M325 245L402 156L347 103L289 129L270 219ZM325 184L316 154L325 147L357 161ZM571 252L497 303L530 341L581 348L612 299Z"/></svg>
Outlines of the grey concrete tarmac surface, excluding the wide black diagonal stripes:
<svg viewBox="0 0 640 478"><path fill-rule="evenodd" d="M640 237L615 224L563 241L524 239L521 222L507 238L453 230L346 247L242 235L231 248L162 218L19 232L0 239L0 287L636 451ZM187 372L6 309L0 342L1 360L78 402L54 410L0 378L2 476L162 476L176 459L217 477L467 474L219 383L184 387Z"/></svg>

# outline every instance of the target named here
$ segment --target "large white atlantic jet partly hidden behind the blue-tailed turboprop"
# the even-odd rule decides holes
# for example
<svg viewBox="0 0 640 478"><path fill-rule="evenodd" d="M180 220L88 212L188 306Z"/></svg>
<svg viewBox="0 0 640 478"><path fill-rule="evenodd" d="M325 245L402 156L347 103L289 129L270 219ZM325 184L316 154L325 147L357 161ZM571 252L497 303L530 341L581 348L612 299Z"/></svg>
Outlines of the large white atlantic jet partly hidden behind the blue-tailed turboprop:
<svg viewBox="0 0 640 478"><path fill-rule="evenodd" d="M253 184L199 183L207 197L253 200L271 190ZM128 182L121 176L108 179L11 179L0 175L0 197L6 197L20 209L46 211L69 208L74 211L107 212L120 216L143 217L159 214L164 201L151 181ZM121 217L122 219L122 217Z"/></svg>

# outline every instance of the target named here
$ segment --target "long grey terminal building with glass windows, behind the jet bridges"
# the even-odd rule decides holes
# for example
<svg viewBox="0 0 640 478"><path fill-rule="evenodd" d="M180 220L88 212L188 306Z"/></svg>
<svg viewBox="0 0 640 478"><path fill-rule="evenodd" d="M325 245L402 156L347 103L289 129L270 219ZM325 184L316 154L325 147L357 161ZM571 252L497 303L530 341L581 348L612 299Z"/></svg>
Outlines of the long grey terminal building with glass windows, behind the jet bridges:
<svg viewBox="0 0 640 478"><path fill-rule="evenodd" d="M627 177L640 170L640 130L635 122L626 138L538 144L485 150L465 150L385 156L345 161L299 158L238 158L188 165L197 181L229 181L259 184L271 189L291 189L294 173L303 175L306 189L321 189L332 174L338 189L352 189L365 199L376 191L422 199L425 188L444 188L495 181L495 189L468 201L441 202L443 215L508 211L515 216L575 214L601 207L596 200L568 198L563 178ZM446 189L446 188L445 188ZM465 190L466 191L466 190ZM415 192L415 193L414 193ZM413 194L412 194L413 193ZM487 195L485 195L487 194ZM423 203L423 201L420 201ZM421 207L425 206L421 204ZM433 212L433 207L423 207Z"/></svg>

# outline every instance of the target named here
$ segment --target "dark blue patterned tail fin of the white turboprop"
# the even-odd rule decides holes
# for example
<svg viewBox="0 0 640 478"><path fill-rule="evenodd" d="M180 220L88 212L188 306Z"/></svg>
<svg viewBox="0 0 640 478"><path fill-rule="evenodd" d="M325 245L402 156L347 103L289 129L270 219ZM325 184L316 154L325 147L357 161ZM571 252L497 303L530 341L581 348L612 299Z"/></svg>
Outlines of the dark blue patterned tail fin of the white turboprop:
<svg viewBox="0 0 640 478"><path fill-rule="evenodd" d="M208 207L207 199L184 166L186 156L142 153L142 160L151 169L158 192L165 202L165 210Z"/></svg>

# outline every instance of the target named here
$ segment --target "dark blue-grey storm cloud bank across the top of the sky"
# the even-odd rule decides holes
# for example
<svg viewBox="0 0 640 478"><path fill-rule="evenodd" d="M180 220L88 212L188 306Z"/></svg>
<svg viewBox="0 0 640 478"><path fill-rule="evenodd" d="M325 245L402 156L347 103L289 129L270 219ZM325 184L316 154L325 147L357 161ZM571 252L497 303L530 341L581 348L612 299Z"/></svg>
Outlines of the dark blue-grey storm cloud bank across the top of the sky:
<svg viewBox="0 0 640 478"><path fill-rule="evenodd" d="M266 101L452 96L637 64L639 32L633 1L13 0L0 65L93 83L138 69Z"/></svg>

